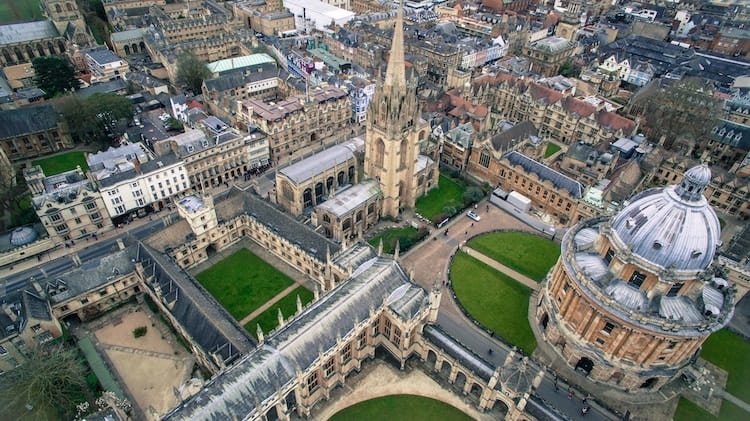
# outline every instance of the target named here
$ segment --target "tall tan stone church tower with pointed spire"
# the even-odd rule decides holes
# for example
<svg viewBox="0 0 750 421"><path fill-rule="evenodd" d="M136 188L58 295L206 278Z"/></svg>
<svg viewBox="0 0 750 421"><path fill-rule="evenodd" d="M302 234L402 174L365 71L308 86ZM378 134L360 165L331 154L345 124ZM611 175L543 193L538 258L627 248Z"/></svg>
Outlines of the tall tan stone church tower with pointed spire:
<svg viewBox="0 0 750 421"><path fill-rule="evenodd" d="M427 138L429 126L420 119L416 90L416 77L406 80L399 6L385 80L375 90L367 117L365 175L380 183L382 215L396 217L402 209L414 207L420 193L419 143Z"/></svg>

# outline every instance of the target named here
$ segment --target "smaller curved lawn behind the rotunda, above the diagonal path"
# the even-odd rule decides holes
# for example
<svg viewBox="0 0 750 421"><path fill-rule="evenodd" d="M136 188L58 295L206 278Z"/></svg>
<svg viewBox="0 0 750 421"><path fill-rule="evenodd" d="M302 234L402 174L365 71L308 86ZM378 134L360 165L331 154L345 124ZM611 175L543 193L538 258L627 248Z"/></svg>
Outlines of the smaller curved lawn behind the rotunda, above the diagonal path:
<svg viewBox="0 0 750 421"><path fill-rule="evenodd" d="M495 232L473 238L469 247L540 282L557 258L560 246L525 232Z"/></svg>

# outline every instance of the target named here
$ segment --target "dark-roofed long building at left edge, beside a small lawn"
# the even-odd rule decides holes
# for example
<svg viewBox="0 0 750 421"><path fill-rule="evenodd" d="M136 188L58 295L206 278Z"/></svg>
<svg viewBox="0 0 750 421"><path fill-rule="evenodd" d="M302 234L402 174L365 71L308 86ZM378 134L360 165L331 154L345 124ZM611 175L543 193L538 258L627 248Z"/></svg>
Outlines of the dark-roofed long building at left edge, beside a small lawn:
<svg viewBox="0 0 750 421"><path fill-rule="evenodd" d="M0 113L0 146L11 161L73 147L62 118L44 104Z"/></svg>

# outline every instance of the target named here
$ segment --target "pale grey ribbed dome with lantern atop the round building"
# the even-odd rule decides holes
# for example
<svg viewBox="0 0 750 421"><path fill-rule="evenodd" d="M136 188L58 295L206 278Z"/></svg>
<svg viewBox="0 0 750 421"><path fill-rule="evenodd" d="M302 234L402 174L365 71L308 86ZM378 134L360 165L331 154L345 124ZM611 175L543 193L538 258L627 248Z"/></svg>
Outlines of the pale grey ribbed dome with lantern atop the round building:
<svg viewBox="0 0 750 421"><path fill-rule="evenodd" d="M706 269L721 234L719 219L703 197L710 181L708 166L699 165L679 185L634 197L613 219L614 236L636 256L664 269Z"/></svg>

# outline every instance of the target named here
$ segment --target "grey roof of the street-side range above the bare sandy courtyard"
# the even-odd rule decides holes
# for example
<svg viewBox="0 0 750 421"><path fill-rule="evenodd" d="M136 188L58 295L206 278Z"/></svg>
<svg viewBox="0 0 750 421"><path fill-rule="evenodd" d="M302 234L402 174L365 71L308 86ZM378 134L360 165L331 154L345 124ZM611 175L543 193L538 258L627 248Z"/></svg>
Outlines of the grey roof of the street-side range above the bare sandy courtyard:
<svg viewBox="0 0 750 421"><path fill-rule="evenodd" d="M52 303L61 303L95 290L135 270L133 260L136 255L136 246L130 246L101 259L83 262L81 266L48 280L45 285L47 295Z"/></svg>

